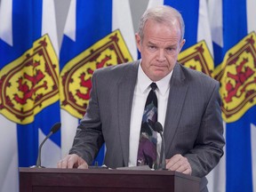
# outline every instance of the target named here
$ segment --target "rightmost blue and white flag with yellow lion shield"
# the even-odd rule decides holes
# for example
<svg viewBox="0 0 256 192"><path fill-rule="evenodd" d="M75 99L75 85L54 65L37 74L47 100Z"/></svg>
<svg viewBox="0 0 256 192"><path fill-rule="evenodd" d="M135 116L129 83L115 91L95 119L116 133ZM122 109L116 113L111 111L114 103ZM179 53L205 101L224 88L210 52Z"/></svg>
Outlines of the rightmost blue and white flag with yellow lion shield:
<svg viewBox="0 0 256 192"><path fill-rule="evenodd" d="M212 11L212 20L219 20L212 25L212 31L219 36L212 40L214 76L221 84L222 116L226 122L225 191L255 191L256 15L252 7L256 1L221 3L220 14ZM210 5L210 10L216 8L213 2Z"/></svg>

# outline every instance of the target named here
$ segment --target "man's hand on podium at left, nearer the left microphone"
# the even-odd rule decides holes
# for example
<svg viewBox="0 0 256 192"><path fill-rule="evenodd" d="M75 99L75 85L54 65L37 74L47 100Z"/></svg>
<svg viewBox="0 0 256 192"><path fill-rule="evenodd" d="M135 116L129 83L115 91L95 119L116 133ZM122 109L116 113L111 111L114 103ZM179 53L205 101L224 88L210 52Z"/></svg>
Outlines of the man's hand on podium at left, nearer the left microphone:
<svg viewBox="0 0 256 192"><path fill-rule="evenodd" d="M65 168L88 169L88 164L84 161L82 157L77 156L76 154L71 154L61 159L58 162L57 167L62 169L65 169Z"/></svg>

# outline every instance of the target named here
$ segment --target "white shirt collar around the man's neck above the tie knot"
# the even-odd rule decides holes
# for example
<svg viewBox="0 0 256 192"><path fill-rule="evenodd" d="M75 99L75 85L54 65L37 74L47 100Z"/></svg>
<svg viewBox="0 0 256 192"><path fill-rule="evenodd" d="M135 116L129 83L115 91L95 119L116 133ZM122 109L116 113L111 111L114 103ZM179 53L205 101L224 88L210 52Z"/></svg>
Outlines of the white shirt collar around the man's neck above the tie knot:
<svg viewBox="0 0 256 192"><path fill-rule="evenodd" d="M140 60L140 63L141 63L141 60ZM167 76L164 76L164 78L156 82L156 85L160 94L164 95L170 88L170 80L172 77L172 72L173 72L173 69L171 73L169 73ZM152 81L148 78L148 76L142 70L141 66L139 66L137 81L140 88L140 92L147 92L147 90L149 89L148 88L149 85L152 83Z"/></svg>

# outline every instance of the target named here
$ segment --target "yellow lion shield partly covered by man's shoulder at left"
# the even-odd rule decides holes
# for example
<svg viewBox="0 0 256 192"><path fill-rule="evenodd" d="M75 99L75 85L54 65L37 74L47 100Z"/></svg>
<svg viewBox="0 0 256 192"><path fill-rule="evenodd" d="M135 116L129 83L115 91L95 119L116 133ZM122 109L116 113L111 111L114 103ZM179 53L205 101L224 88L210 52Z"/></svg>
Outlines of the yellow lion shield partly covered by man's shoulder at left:
<svg viewBox="0 0 256 192"><path fill-rule="evenodd" d="M132 61L132 56L119 30L113 31L81 52L61 71L61 108L77 118L82 118L90 99L93 71L128 61Z"/></svg>

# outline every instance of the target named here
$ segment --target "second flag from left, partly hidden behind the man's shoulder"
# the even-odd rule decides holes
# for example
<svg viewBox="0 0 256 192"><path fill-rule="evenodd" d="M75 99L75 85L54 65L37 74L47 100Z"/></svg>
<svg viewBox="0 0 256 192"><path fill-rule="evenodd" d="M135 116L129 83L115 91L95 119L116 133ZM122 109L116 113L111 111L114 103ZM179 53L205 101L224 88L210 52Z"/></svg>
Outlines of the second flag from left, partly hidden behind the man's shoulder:
<svg viewBox="0 0 256 192"><path fill-rule="evenodd" d="M60 49L62 156L72 147L86 112L93 71L136 59L129 1L71 1ZM97 164L103 164L104 153L103 147Z"/></svg>

